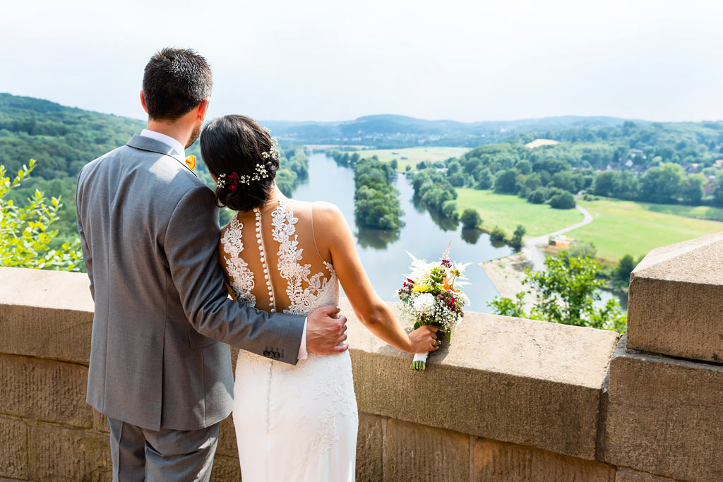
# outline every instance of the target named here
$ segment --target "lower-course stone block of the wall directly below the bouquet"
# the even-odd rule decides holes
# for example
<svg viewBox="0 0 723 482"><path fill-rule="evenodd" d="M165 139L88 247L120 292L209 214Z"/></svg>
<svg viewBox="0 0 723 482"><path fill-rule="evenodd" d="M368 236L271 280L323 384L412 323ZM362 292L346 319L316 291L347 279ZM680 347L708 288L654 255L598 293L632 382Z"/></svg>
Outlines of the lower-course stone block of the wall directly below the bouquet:
<svg viewBox="0 0 723 482"><path fill-rule="evenodd" d="M467 434L388 420L384 480L467 481L469 439Z"/></svg>

